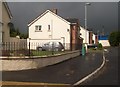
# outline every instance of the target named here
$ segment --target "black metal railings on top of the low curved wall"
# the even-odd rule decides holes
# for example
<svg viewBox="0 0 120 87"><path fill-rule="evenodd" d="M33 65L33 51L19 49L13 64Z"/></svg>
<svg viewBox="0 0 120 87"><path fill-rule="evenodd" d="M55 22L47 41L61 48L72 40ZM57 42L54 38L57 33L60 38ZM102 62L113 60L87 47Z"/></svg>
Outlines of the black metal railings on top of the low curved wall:
<svg viewBox="0 0 120 87"><path fill-rule="evenodd" d="M48 56L59 53L64 53L70 50L81 49L80 44L65 43L65 46L71 46L70 49L63 51L63 49L55 49L54 46L44 51L41 48L41 43L31 43L31 42L4 42L2 43L2 56ZM64 48L65 48L64 46ZM43 50L43 51L42 51Z"/></svg>

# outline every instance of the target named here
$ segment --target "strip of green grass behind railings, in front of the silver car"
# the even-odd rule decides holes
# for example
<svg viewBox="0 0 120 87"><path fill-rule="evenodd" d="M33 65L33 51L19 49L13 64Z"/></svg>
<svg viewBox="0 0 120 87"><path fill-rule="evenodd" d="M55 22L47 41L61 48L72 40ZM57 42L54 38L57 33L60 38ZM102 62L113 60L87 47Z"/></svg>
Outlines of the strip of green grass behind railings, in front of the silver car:
<svg viewBox="0 0 120 87"><path fill-rule="evenodd" d="M50 56L54 54L61 54L64 53L65 51L31 51L33 56Z"/></svg>

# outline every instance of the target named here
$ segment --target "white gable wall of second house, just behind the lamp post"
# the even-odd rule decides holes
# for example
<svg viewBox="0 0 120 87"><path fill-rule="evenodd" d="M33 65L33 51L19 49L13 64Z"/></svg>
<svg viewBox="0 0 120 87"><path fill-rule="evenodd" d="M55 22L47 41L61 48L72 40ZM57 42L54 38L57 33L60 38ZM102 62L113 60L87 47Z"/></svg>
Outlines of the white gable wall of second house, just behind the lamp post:
<svg viewBox="0 0 120 87"><path fill-rule="evenodd" d="M85 30L83 27L81 27L80 26L80 33L81 33L81 35L80 35L80 37L82 37L83 38L83 43L85 43L85 41L87 41L87 43L89 43L89 31L87 30ZM86 40L85 40L86 39Z"/></svg>

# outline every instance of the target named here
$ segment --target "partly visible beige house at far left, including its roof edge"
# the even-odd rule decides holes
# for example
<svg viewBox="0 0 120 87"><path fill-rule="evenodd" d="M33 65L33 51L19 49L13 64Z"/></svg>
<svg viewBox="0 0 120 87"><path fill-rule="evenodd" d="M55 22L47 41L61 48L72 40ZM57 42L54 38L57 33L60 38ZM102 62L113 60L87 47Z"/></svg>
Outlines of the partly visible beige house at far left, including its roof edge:
<svg viewBox="0 0 120 87"><path fill-rule="evenodd" d="M1 21L1 31L0 31L0 40L1 42L9 42L10 40L10 29L8 23L12 18L12 14L6 2L1 2L2 8L2 21Z"/></svg>

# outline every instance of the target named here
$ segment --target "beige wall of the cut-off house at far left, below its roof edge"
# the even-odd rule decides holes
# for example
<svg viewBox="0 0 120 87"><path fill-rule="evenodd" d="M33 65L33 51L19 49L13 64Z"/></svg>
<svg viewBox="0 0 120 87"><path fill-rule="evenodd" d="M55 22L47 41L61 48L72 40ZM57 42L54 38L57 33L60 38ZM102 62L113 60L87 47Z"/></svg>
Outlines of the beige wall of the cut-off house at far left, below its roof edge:
<svg viewBox="0 0 120 87"><path fill-rule="evenodd" d="M9 34L9 26L10 22L9 14L6 10L5 5L2 3L2 42L9 42L10 34Z"/></svg>

